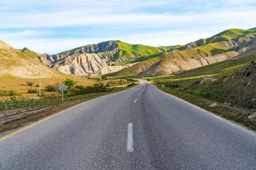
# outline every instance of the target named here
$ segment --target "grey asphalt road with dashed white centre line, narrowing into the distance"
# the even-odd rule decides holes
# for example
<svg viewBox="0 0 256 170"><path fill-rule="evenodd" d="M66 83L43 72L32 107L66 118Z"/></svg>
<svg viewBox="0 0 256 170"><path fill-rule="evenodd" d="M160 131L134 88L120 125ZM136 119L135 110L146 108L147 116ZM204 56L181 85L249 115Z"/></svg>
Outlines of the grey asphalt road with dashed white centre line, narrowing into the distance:
<svg viewBox="0 0 256 170"><path fill-rule="evenodd" d="M256 169L256 133L141 80L0 140L0 169Z"/></svg>

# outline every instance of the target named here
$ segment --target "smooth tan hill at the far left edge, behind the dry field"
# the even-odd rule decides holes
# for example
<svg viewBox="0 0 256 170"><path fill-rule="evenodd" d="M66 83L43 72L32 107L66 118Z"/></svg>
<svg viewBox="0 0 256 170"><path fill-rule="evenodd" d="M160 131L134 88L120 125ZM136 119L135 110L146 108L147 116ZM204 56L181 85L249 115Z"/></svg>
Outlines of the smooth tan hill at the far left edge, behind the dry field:
<svg viewBox="0 0 256 170"><path fill-rule="evenodd" d="M0 40L0 77L52 77L59 72L40 63L38 54L27 48L16 50Z"/></svg>

